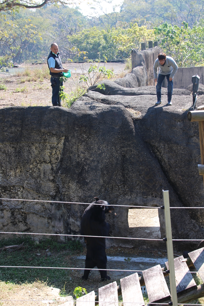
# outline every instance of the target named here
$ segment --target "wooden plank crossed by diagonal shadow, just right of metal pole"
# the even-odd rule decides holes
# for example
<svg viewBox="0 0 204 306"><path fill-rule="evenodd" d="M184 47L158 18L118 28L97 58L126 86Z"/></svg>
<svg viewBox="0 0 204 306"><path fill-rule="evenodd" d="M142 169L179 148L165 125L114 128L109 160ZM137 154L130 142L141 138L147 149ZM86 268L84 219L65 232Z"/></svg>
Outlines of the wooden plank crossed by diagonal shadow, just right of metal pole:
<svg viewBox="0 0 204 306"><path fill-rule="evenodd" d="M165 263L167 270L169 270L168 261ZM183 256L174 258L174 268L176 277L176 292L184 293L197 288L196 283L190 273ZM181 273L182 272L182 273Z"/></svg>

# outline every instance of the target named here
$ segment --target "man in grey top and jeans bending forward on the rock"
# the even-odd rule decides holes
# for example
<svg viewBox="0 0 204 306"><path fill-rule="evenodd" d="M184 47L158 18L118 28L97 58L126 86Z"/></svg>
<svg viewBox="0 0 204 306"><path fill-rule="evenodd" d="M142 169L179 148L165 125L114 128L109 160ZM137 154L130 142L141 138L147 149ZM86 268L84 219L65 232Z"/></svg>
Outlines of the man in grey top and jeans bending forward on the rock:
<svg viewBox="0 0 204 306"><path fill-rule="evenodd" d="M157 68L159 67L159 73L157 77ZM168 105L172 105L171 97L173 92L173 77L178 69L176 62L170 56L166 56L165 53L160 53L154 63L154 82L157 83L157 102L155 105L161 104L161 84L165 79L168 81L167 85L167 99Z"/></svg>

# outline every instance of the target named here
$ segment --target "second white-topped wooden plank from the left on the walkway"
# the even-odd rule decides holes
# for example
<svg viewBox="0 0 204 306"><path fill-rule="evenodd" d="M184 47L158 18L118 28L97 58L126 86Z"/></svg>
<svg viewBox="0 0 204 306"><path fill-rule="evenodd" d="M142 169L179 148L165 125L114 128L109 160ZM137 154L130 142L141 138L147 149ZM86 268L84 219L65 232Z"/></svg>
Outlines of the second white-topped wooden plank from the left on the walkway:
<svg viewBox="0 0 204 306"><path fill-rule="evenodd" d="M117 282L98 288L98 304L99 306L118 306Z"/></svg>

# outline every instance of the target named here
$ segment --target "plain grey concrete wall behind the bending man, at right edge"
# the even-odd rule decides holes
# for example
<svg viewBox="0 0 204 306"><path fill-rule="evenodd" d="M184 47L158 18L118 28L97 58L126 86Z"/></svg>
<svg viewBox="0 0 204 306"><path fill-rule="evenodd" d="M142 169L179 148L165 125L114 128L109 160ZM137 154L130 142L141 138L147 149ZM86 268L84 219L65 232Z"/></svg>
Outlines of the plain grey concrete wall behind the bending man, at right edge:
<svg viewBox="0 0 204 306"><path fill-rule="evenodd" d="M204 67L187 67L187 68L179 68L173 78L173 88L187 88L188 85L192 84L191 78L195 74L198 74L200 77L199 84L204 85ZM167 88L167 80L162 83L162 87Z"/></svg>

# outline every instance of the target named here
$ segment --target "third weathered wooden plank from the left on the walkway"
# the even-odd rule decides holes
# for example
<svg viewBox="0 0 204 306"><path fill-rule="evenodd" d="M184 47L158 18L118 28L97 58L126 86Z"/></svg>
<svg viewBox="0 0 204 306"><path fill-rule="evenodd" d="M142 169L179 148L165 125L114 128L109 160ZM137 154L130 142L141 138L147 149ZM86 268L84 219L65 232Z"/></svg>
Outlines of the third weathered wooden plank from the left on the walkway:
<svg viewBox="0 0 204 306"><path fill-rule="evenodd" d="M124 306L144 306L144 299L137 273L121 278L121 291Z"/></svg>

